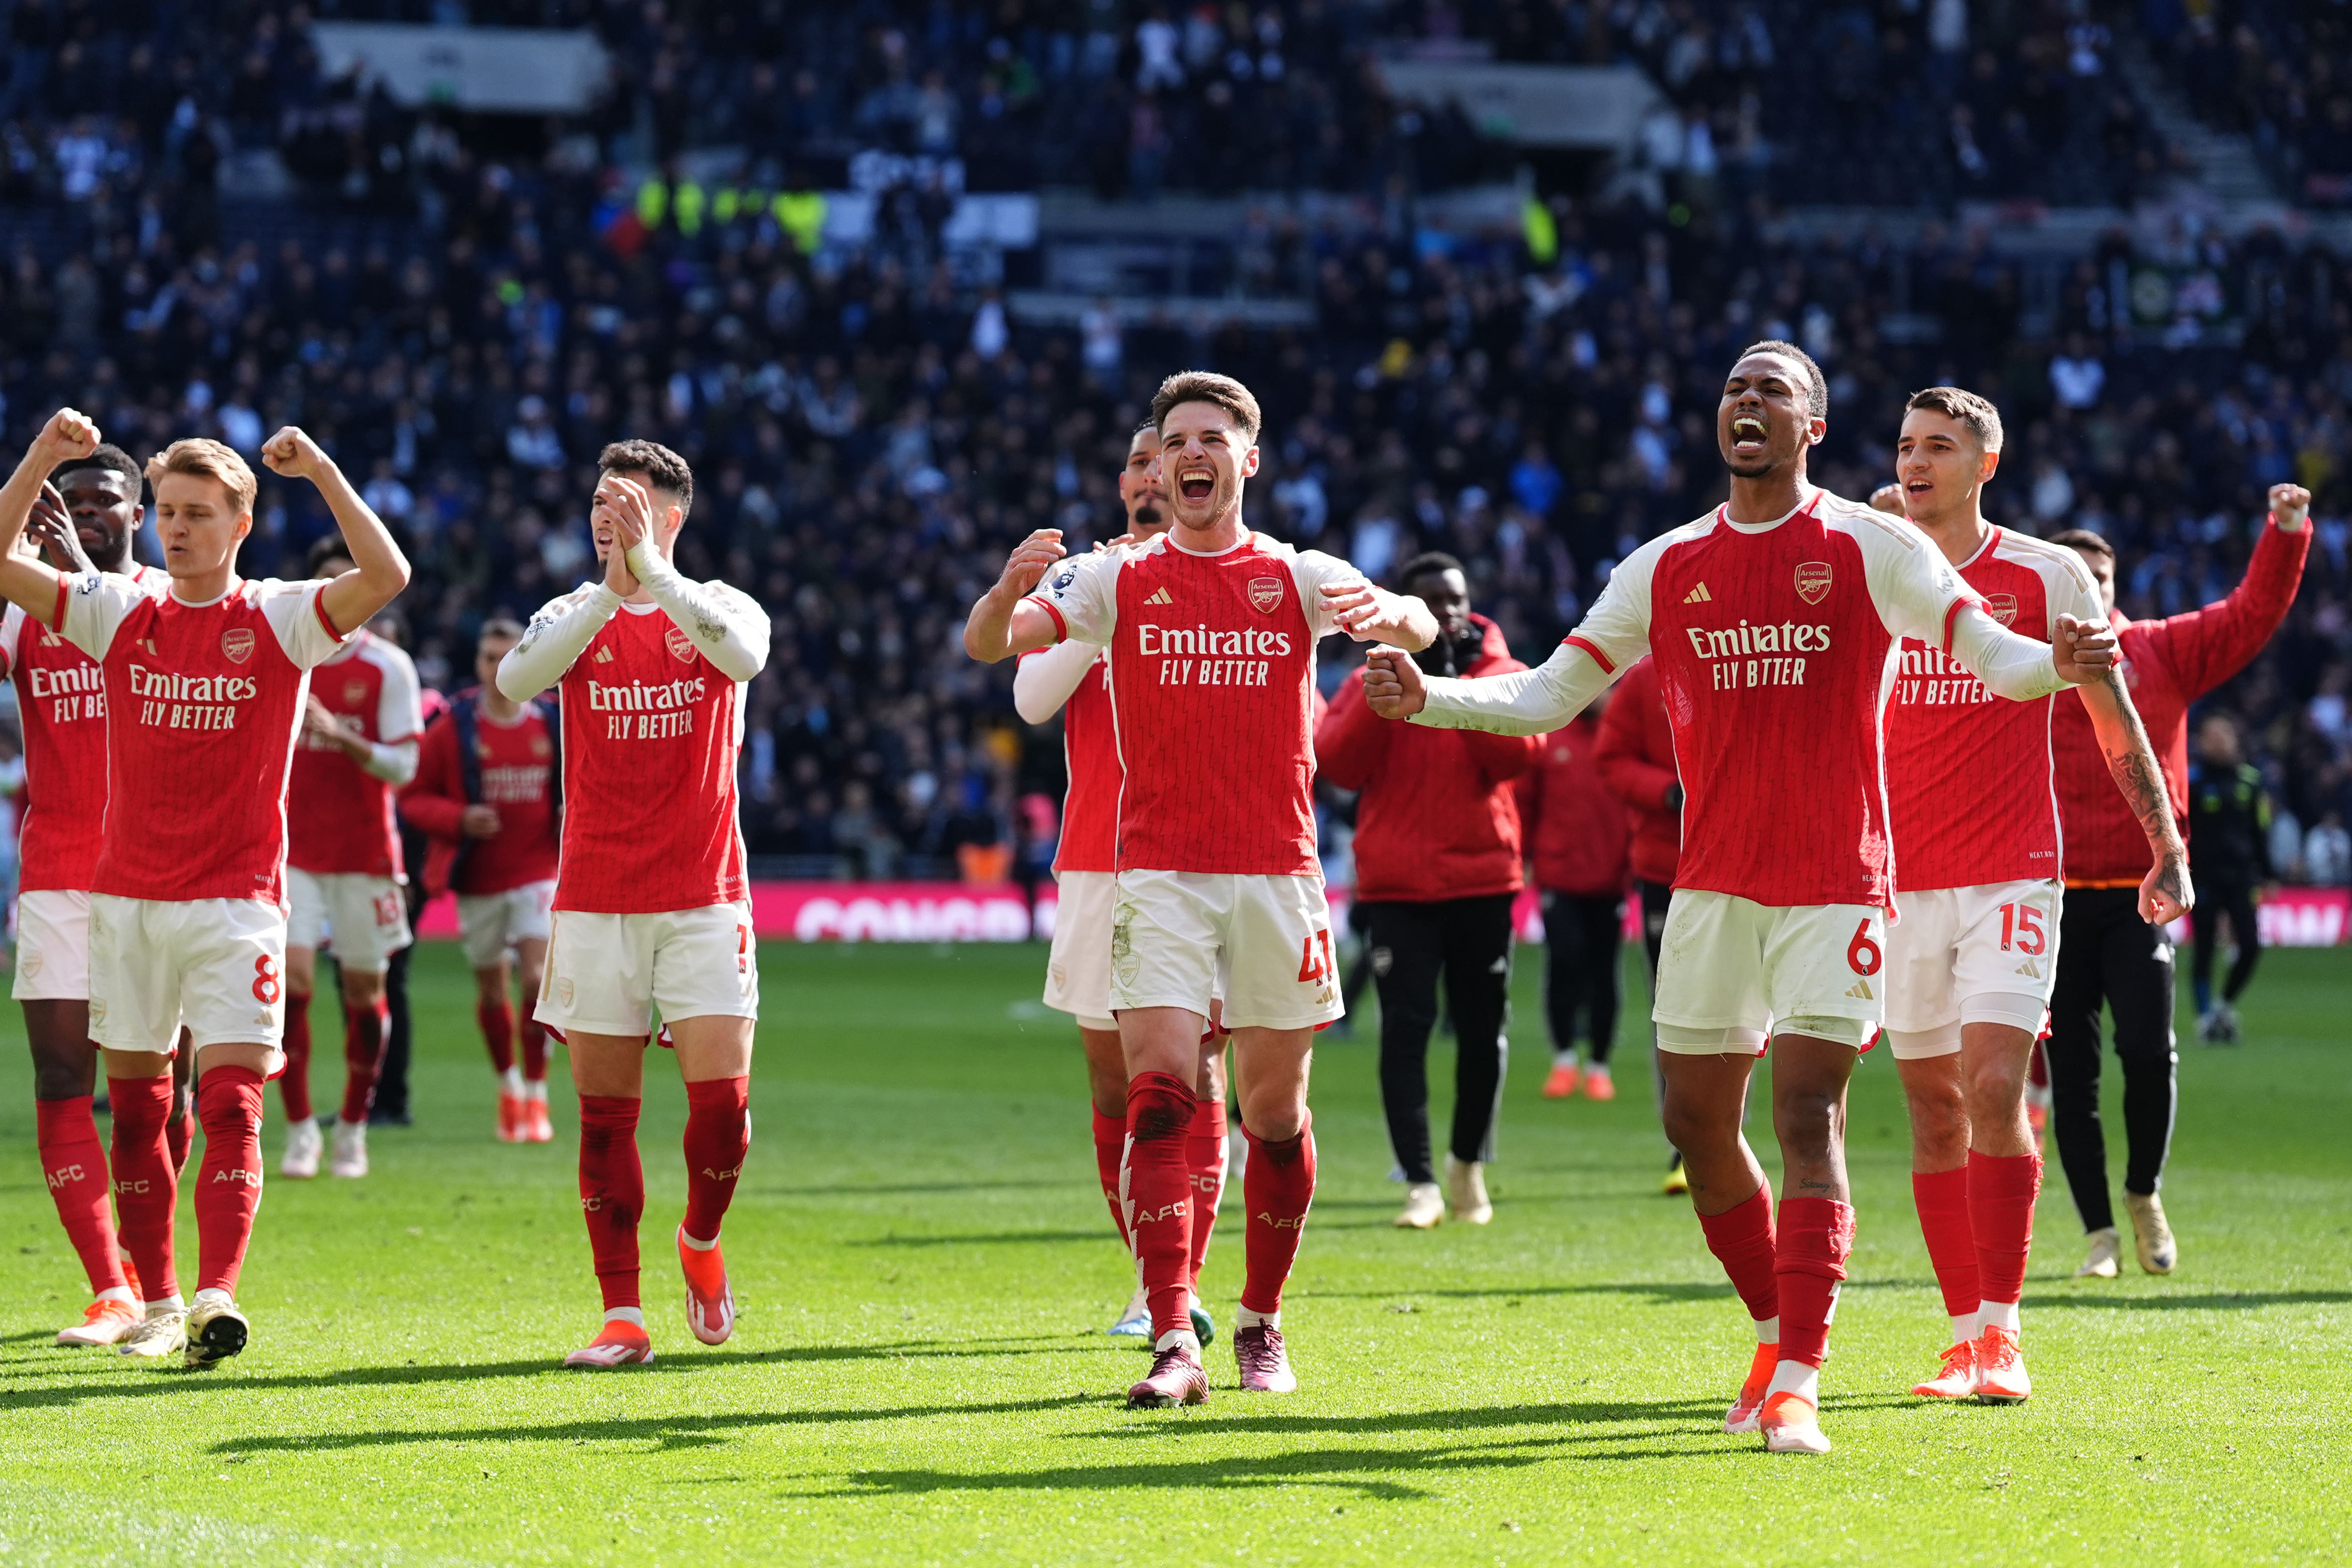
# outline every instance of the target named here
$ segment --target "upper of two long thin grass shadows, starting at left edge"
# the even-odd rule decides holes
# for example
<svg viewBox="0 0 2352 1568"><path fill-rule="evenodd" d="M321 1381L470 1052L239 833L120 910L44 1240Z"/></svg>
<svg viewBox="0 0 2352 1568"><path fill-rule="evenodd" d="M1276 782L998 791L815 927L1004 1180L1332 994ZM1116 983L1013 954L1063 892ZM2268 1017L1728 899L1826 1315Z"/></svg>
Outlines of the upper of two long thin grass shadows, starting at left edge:
<svg viewBox="0 0 2352 1568"><path fill-rule="evenodd" d="M1068 1356L1096 1349L1094 1335L1000 1335L988 1340L894 1340L884 1345L783 1345L755 1352L713 1352L663 1356L654 1366L637 1366L621 1378L684 1378L715 1373L736 1366L781 1366L793 1361L920 1361L920 1359L993 1359L993 1356ZM47 1389L12 1389L9 1408L31 1410L40 1406L78 1406L89 1399L146 1399L158 1394L266 1394L275 1389L360 1389L360 1387L409 1387L430 1382L480 1382L489 1378L539 1378L539 1375L600 1375L562 1366L555 1356L532 1361L454 1361L430 1366L350 1366L332 1373L285 1373L240 1378L238 1366L223 1363L209 1373L181 1373L179 1368L113 1368L87 1382L71 1382Z"/></svg>

